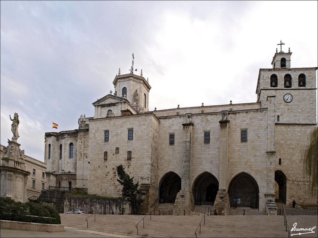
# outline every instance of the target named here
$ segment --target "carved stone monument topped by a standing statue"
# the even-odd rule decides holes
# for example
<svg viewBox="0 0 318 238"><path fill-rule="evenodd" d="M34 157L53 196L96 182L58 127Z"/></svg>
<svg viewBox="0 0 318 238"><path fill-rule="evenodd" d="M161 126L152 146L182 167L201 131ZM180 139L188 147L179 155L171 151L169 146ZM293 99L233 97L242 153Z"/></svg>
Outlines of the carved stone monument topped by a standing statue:
<svg viewBox="0 0 318 238"><path fill-rule="evenodd" d="M1 197L10 197L18 202L28 202L26 197L26 182L29 171L25 171L24 150L20 149L17 142L19 137L18 125L19 116L15 113L12 119L11 131L13 133L12 141L8 139L8 146L4 148L1 163Z"/></svg>

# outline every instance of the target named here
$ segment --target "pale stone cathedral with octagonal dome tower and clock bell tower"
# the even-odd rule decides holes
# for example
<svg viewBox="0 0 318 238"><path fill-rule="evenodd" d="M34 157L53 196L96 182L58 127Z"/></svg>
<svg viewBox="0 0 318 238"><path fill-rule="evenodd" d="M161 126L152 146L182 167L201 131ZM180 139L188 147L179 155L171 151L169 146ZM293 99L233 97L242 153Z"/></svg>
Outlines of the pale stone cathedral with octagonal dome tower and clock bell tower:
<svg viewBox="0 0 318 238"><path fill-rule="evenodd" d="M259 69L257 102L149 111L151 86L131 67L115 76L114 94L93 102L79 128L45 133L46 186L87 188L118 197L122 164L145 198L174 203L173 214L197 204L266 210L279 198L316 204L302 169L302 149L316 123L316 70L291 68L280 50Z"/></svg>

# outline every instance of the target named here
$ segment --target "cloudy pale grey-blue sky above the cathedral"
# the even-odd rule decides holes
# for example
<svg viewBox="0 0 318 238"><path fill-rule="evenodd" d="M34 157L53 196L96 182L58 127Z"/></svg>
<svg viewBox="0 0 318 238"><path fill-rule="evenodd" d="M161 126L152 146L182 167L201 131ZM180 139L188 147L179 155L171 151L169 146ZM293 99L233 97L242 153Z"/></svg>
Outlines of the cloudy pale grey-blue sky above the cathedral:
<svg viewBox="0 0 318 238"><path fill-rule="evenodd" d="M78 128L132 53L149 110L255 102L277 43L292 67L316 67L317 1L1 1L0 142L44 161L44 133Z"/></svg>

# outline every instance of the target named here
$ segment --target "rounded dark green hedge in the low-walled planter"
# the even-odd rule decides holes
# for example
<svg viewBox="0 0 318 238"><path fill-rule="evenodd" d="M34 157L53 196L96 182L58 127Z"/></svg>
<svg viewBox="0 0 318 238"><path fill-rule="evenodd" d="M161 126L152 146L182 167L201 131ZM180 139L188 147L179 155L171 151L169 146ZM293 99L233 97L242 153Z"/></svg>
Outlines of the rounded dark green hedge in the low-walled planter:
<svg viewBox="0 0 318 238"><path fill-rule="evenodd" d="M16 202L7 197L1 197L0 200L1 220L61 224L61 218L58 211L49 205L40 205L35 202ZM23 215L32 215L37 217ZM41 218L39 216L53 217L55 219Z"/></svg>

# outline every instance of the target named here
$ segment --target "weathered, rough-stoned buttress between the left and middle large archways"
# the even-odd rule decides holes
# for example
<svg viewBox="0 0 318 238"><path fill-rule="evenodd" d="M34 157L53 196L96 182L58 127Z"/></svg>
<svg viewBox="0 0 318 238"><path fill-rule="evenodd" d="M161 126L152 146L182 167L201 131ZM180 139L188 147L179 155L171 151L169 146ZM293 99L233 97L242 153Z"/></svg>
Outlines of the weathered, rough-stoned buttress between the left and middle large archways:
<svg viewBox="0 0 318 238"><path fill-rule="evenodd" d="M183 141L182 141L182 175L181 190L176 195L176 201L173 208L173 215L189 215L193 210L194 202L192 191L189 188L189 175L192 162L192 114L186 114L186 123L183 123Z"/></svg>

